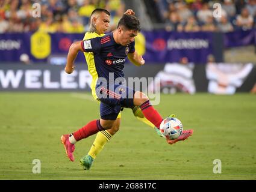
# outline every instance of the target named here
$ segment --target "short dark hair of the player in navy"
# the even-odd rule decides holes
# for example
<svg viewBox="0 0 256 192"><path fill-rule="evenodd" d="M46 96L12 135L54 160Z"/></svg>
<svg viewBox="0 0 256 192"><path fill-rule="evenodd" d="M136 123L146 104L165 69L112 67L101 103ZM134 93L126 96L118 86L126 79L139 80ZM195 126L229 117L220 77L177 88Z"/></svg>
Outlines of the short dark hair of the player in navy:
<svg viewBox="0 0 256 192"><path fill-rule="evenodd" d="M136 16L123 14L123 17L119 20L117 28L124 26L128 30L140 31L140 21Z"/></svg>

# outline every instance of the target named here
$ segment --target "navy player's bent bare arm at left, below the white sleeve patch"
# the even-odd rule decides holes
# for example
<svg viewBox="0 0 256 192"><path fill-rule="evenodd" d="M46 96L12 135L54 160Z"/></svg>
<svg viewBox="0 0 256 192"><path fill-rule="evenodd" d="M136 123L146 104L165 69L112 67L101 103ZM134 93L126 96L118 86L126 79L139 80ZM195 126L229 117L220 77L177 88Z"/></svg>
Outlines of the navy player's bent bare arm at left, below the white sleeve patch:
<svg viewBox="0 0 256 192"><path fill-rule="evenodd" d="M69 52L67 53L67 64L65 67L66 73L73 73L73 70L75 69L75 65L73 64L73 62L75 61L75 58L79 51L83 52L81 41L76 41L75 43L72 43L72 45L69 47Z"/></svg>

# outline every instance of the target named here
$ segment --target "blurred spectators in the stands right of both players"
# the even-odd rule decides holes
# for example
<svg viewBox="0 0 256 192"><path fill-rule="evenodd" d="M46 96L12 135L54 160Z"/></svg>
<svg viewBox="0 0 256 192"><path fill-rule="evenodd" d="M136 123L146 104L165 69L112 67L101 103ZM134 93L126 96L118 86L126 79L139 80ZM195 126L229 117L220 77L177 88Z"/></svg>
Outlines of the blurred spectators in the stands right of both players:
<svg viewBox="0 0 256 192"><path fill-rule="evenodd" d="M154 0L158 22L167 31L220 31L255 28L256 0ZM221 17L213 17L214 4L221 5ZM219 12L220 13L220 12Z"/></svg>

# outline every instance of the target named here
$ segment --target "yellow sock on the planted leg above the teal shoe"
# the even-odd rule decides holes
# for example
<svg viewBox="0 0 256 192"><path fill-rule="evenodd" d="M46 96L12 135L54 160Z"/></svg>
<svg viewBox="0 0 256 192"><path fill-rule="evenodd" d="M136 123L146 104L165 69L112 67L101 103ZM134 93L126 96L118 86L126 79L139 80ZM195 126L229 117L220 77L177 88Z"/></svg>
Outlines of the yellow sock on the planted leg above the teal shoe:
<svg viewBox="0 0 256 192"><path fill-rule="evenodd" d="M112 135L107 130L99 131L88 154L92 158L96 158L111 137Z"/></svg>

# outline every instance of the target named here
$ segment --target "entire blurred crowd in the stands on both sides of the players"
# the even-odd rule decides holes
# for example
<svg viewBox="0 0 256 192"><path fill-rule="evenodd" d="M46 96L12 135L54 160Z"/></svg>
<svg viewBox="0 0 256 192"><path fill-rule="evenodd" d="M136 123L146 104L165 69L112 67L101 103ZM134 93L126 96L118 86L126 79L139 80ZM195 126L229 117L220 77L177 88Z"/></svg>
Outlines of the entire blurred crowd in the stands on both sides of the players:
<svg viewBox="0 0 256 192"><path fill-rule="evenodd" d="M142 0L140 0L142 1ZM152 22L162 23L167 31L220 31L255 28L256 0L144 0ZM222 6L221 17L213 17L214 3ZM40 4L40 17L33 17L33 4ZM122 0L0 0L0 33L66 32L89 29L95 8L111 13L111 28L125 12ZM130 7L129 7L130 8Z"/></svg>

